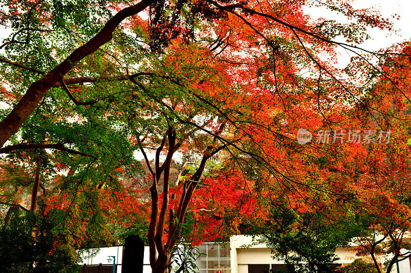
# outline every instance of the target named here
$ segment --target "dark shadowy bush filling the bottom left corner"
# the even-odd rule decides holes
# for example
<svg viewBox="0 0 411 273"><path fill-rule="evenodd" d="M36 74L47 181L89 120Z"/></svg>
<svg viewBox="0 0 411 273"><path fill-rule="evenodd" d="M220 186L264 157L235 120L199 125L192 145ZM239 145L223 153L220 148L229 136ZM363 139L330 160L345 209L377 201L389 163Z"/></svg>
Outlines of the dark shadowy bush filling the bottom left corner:
<svg viewBox="0 0 411 273"><path fill-rule="evenodd" d="M49 218L31 212L14 215L0 229L0 272L77 273L76 250L51 232Z"/></svg>

